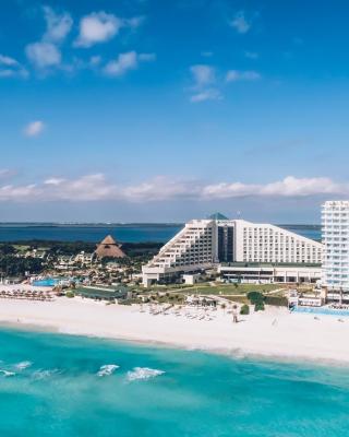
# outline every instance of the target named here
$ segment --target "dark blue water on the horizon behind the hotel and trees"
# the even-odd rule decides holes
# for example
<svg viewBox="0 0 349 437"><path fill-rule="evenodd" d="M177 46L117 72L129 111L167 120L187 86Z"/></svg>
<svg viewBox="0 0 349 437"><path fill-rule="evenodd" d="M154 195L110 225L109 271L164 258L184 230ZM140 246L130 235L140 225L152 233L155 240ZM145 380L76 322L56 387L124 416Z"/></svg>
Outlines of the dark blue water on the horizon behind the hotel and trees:
<svg viewBox="0 0 349 437"><path fill-rule="evenodd" d="M166 243L172 238L182 225L74 225L74 226L33 226L33 225L5 225L0 224L0 241L19 241L29 239L57 240L57 241L89 241L98 243L106 235L111 234L118 241L142 243L158 241ZM296 232L304 237L320 239L320 229L313 227L287 226L288 231Z"/></svg>

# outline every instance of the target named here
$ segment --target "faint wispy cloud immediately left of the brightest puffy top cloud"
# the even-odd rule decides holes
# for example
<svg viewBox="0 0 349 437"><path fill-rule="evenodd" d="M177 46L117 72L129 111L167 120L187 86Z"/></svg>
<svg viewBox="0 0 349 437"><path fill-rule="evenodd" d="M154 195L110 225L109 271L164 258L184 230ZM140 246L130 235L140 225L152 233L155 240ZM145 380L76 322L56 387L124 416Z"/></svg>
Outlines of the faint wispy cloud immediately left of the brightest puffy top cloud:
<svg viewBox="0 0 349 437"><path fill-rule="evenodd" d="M56 13L52 8L44 7L47 31L43 39L51 43L59 43L70 33L73 20L68 12Z"/></svg>

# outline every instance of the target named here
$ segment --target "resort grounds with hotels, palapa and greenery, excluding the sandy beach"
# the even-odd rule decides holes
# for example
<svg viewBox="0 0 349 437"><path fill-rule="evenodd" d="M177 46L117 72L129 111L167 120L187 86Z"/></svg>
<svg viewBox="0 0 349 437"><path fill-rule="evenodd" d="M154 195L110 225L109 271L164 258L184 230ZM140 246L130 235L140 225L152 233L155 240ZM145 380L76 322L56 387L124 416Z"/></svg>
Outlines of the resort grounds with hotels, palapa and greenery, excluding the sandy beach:
<svg viewBox="0 0 349 437"><path fill-rule="evenodd" d="M342 305L349 300L349 201L326 202L322 225L321 241L320 227L315 240L287 226L217 213L190 221L163 247L124 243L122 250L111 235L97 245L2 244L2 297L11 290L13 296L21 290L26 296L44 286L59 294L133 303L186 302L191 291L195 299L204 294L207 303L217 295L231 298L240 290L264 296L276 290L282 305Z"/></svg>

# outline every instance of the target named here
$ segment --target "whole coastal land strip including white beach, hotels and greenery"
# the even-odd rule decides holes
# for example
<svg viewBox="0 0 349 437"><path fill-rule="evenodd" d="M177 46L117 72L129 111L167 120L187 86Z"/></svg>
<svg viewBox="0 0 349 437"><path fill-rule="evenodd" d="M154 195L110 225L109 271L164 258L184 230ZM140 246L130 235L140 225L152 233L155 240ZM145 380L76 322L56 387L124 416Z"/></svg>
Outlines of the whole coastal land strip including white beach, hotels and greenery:
<svg viewBox="0 0 349 437"><path fill-rule="evenodd" d="M94 241L3 243L0 319L191 349L349 362L342 347L348 204L323 205L322 243L318 226L317 241L304 236L314 235L312 226L292 227L304 233L298 235L290 226L221 214L186 223L163 247L124 243L121 250L112 229L97 249ZM10 277L14 268L17 277ZM324 315L334 317L325 322Z"/></svg>

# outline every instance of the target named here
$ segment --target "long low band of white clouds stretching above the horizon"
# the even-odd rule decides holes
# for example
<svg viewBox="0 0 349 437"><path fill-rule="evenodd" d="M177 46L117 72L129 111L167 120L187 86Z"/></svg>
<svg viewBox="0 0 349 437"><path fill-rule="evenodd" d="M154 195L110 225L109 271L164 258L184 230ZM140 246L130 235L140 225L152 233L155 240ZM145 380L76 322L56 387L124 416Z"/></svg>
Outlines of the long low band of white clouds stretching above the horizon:
<svg viewBox="0 0 349 437"><path fill-rule="evenodd" d="M200 181L173 180L159 176L139 185L118 186L103 174L76 179L52 177L44 182L24 186L0 186L0 200L13 201L103 201L127 202L195 199L212 201L234 198L304 198L349 196L349 182L338 184L326 177L297 178L288 176L268 184L240 181L204 185Z"/></svg>

